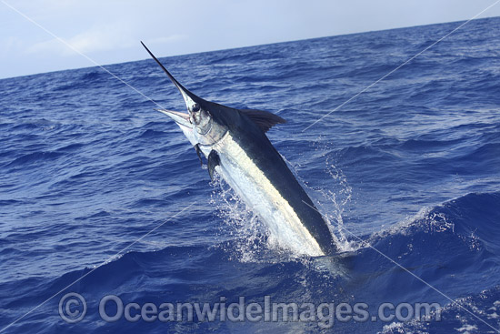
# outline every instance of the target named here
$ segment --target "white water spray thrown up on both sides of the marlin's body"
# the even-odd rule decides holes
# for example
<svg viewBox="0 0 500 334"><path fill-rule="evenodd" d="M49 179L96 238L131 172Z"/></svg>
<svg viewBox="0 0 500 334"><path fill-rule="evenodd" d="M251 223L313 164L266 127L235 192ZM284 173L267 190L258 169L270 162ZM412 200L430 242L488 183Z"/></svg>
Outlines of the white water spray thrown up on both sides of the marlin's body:
<svg viewBox="0 0 500 334"><path fill-rule="evenodd" d="M318 208L320 212L327 212L324 218L340 251L357 249L355 241L349 240L344 231L344 207L351 200L352 188L348 186L342 171L326 158L324 173L328 179L333 181L335 189L313 188L309 187L298 176L296 164L292 164L286 159L285 162L305 189L313 190L320 195L321 200L317 201ZM330 183L327 182L326 185ZM307 257L303 254L296 254L290 249L281 247L276 236L270 233L265 224L255 216L222 177L216 176L212 181L212 186L214 190L211 204L216 208L216 215L223 221L223 225L220 227L221 234L228 235L233 240L230 246L225 247L225 251L230 254L231 258L242 262L307 261Z"/></svg>

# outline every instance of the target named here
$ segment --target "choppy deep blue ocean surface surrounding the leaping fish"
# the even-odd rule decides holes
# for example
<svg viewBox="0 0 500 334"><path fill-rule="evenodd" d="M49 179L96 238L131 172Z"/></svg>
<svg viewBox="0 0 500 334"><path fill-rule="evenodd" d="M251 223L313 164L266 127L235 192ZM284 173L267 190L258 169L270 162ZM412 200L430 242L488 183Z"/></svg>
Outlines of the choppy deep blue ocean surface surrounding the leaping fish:
<svg viewBox="0 0 500 334"><path fill-rule="evenodd" d="M0 80L0 331L500 330L500 18L468 23L370 86L458 25L161 58L198 96L287 120L267 135L328 218L333 257L275 248L210 181L154 110L150 99L185 105L153 60L105 66L150 99L99 67ZM83 314L68 293L85 299L75 323L59 311ZM106 296L106 315L120 316L120 299L140 319L103 319ZM266 302L295 303L300 319L235 319L240 304ZM168 303L240 304L232 319L190 320L189 306L156 317ZM356 303L361 319L328 318L330 305ZM390 307L380 317L384 303L403 316L440 307L399 320Z"/></svg>

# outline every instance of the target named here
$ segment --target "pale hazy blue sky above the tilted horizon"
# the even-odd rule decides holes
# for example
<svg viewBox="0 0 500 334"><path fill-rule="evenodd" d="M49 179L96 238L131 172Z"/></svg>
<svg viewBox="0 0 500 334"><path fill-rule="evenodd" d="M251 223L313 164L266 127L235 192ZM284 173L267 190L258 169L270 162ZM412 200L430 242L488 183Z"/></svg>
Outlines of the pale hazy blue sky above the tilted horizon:
<svg viewBox="0 0 500 334"><path fill-rule="evenodd" d="M462 21L495 1L0 0L0 78L146 59L141 40L176 56Z"/></svg>

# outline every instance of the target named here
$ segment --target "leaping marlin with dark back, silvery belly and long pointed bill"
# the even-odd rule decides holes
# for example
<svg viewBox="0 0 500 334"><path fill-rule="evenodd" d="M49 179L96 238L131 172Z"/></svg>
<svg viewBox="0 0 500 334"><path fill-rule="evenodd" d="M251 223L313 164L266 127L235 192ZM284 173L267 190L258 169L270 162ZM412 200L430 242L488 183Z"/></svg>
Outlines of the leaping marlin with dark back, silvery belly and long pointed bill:
<svg viewBox="0 0 500 334"><path fill-rule="evenodd" d="M335 241L311 198L286 166L265 133L285 119L267 111L236 109L195 96L145 46L181 92L187 114L158 109L170 116L195 147L208 173L235 190L269 229L282 248L307 256L332 255Z"/></svg>

